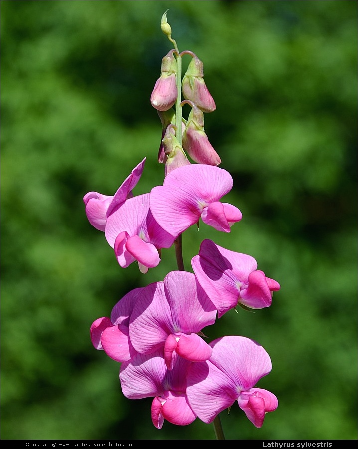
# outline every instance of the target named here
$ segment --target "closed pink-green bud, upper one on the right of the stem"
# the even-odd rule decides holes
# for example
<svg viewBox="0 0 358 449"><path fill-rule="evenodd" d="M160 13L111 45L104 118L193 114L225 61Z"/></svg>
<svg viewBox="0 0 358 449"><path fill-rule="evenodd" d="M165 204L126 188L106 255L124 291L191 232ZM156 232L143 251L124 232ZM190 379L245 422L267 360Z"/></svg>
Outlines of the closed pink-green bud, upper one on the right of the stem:
<svg viewBox="0 0 358 449"><path fill-rule="evenodd" d="M195 103L203 112L214 111L216 104L204 81L204 64L192 52L184 51L181 54L190 54L192 56L182 80L184 98Z"/></svg>

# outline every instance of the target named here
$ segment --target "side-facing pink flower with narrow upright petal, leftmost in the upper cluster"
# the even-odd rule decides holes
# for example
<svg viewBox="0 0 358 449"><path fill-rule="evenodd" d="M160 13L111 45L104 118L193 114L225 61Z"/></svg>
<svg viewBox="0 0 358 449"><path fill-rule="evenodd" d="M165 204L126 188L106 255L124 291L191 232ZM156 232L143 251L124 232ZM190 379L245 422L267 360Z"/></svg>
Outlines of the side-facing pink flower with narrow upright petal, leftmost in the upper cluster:
<svg viewBox="0 0 358 449"><path fill-rule="evenodd" d="M113 195L102 195L98 192L88 192L83 201L86 206L88 221L96 229L104 232L107 218L116 211L128 198L133 196L132 190L137 185L144 169L144 158L123 181L117 192Z"/></svg>

